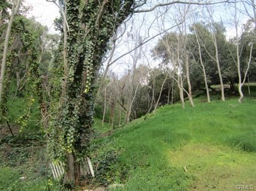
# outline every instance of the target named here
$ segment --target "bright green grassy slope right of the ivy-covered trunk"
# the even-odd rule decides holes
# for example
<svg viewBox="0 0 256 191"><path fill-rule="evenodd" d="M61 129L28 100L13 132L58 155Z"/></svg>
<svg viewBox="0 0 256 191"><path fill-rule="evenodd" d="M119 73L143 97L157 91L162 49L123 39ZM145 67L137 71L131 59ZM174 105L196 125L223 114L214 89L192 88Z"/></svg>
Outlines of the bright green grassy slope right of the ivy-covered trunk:
<svg viewBox="0 0 256 191"><path fill-rule="evenodd" d="M196 103L184 110L176 104L116 131L105 141L122 148L119 163L133 169L123 190L256 186L255 106L254 99Z"/></svg>

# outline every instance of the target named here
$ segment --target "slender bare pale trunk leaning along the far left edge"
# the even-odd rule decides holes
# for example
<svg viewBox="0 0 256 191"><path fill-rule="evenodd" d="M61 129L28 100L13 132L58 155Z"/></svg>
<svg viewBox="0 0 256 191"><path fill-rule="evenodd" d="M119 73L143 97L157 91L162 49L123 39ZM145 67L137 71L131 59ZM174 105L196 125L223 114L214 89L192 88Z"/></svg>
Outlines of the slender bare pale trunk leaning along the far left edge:
<svg viewBox="0 0 256 191"><path fill-rule="evenodd" d="M5 45L3 48L3 58L2 58L1 74L0 74L0 104L2 100L2 94L3 94L3 82L5 80L6 60L7 60L7 53L8 53L8 47L9 47L9 38L11 34L11 27L13 26L14 16L17 14L19 10L20 1L21 0L17 0L14 2L13 9L11 11L11 17L8 22L6 35L5 35Z"/></svg>

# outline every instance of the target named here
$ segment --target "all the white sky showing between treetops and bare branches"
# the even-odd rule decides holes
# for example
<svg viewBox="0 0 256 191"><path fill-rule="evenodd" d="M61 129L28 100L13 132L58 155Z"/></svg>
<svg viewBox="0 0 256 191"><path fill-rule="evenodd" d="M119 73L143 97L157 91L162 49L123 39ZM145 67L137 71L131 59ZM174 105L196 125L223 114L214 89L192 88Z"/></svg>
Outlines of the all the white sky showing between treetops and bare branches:
<svg viewBox="0 0 256 191"><path fill-rule="evenodd" d="M165 0L161 0L161 1L148 0L148 2L152 2L152 3L164 2L164 1ZM34 16L38 22L47 26L49 28L50 33L58 33L54 29L53 21L55 20L55 18L59 17L60 13L59 13L58 7L54 3L47 2L46 0L24 0L24 2L26 6L31 6L32 8L28 16ZM138 33L138 27L141 26L143 18L145 19L143 22L144 24L143 24L142 30L139 31L139 34L143 37L143 39L148 34L150 35L148 38L150 38L154 36L156 33L159 33L160 31L162 31L163 28L168 28L172 26L173 20L171 18L172 18L172 15L176 13L175 7L173 9L170 9L163 18L159 18L160 20L164 19L165 20L164 23L162 23L160 20L159 21L155 20L154 24L151 26L152 21L155 18L155 15L159 14L160 10L164 10L164 7L162 9L156 9L155 11L152 11L152 12L147 12L146 15L144 15L143 13L135 14L134 23L129 23L129 24L127 23L128 24L127 31L130 31L132 33L134 32ZM214 17L216 18L215 20L216 22L219 22L220 21L219 19L221 18L222 22L225 23L226 36L228 38L234 36L234 28L232 25L228 24L232 20L232 11L229 12L228 10L225 10L225 7L223 7L223 5L219 5L214 9ZM245 17L242 16L242 20L240 20L240 23L245 23L247 19L248 18L246 18L246 16ZM148 27L150 28L150 32L148 32ZM160 36L143 46L143 49L144 49L143 51L146 52L147 58L150 59L151 66L157 65L156 62L159 62L159 61L152 60L151 52L150 52L150 50L154 48L155 44L158 41L157 39L159 38ZM130 40L130 41L127 43L127 40ZM128 48L128 46L130 48ZM131 39L127 39L127 35L124 35L124 37L122 37L122 43L120 47L116 50L114 54L113 60L121 56L123 53L126 53L131 49L131 47L134 47L134 46L135 46L134 41ZM139 62L145 63L144 59L145 58L141 58L141 61ZM121 60L117 61L111 67L111 70L115 71L116 73L122 74L123 72L127 71L128 68L131 69L132 67L131 65L132 65L131 55L127 55L123 57Z"/></svg>

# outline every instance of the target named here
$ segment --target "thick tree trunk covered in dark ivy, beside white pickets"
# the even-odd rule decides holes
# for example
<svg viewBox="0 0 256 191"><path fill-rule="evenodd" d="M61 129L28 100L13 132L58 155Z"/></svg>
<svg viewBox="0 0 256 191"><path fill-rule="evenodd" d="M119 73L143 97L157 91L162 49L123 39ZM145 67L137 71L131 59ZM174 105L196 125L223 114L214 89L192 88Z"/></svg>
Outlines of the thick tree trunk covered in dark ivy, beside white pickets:
<svg viewBox="0 0 256 191"><path fill-rule="evenodd" d="M79 184L80 161L88 154L92 134L94 83L108 42L119 24L131 14L133 0L67 0L68 78L50 148L63 160L64 185Z"/></svg>

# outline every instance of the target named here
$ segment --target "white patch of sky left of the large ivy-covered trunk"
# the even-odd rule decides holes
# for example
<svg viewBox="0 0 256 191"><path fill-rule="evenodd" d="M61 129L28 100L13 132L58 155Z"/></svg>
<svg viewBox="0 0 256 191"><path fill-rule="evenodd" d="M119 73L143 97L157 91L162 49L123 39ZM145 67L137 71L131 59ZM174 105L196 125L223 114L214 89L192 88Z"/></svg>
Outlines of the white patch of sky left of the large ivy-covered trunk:
<svg viewBox="0 0 256 191"><path fill-rule="evenodd" d="M56 33L53 20L59 17L59 9L54 3L46 0L25 0L26 6L30 6L32 10L28 16L35 16L36 20L49 28L49 32Z"/></svg>

